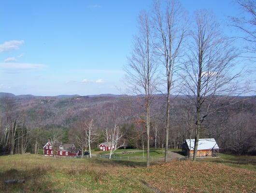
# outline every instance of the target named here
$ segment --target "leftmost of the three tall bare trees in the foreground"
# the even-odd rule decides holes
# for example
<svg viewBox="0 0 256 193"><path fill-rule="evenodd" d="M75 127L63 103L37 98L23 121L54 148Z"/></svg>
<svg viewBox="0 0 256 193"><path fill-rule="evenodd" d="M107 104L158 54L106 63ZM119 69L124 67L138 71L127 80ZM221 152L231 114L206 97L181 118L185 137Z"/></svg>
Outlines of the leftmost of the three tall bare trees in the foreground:
<svg viewBox="0 0 256 193"><path fill-rule="evenodd" d="M139 16L139 29L140 34L134 37L133 51L125 71L131 91L137 95L142 95L144 99L147 129L147 166L149 166L150 106L154 99L153 93L156 85L156 63L154 61L150 19L146 12Z"/></svg>

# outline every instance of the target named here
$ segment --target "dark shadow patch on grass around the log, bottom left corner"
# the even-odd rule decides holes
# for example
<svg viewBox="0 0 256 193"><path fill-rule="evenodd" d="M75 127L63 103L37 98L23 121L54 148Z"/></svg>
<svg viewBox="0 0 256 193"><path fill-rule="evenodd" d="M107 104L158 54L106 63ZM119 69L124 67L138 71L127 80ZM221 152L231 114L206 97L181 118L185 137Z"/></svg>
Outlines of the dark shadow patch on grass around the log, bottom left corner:
<svg viewBox="0 0 256 193"><path fill-rule="evenodd" d="M52 182L45 178L49 168L35 167L26 170L9 169L0 173L0 192L55 192ZM8 179L24 179L24 183L5 183Z"/></svg>

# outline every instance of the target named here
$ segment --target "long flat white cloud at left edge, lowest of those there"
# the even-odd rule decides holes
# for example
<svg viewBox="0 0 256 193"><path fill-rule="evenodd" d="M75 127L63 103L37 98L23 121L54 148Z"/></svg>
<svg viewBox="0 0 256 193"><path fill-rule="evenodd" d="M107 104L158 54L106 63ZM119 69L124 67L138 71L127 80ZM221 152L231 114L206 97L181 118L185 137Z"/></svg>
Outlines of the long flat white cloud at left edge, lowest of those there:
<svg viewBox="0 0 256 193"><path fill-rule="evenodd" d="M43 69L46 66L43 64L30 64L30 63L0 63L0 69L8 71L22 71L22 70L33 70Z"/></svg>

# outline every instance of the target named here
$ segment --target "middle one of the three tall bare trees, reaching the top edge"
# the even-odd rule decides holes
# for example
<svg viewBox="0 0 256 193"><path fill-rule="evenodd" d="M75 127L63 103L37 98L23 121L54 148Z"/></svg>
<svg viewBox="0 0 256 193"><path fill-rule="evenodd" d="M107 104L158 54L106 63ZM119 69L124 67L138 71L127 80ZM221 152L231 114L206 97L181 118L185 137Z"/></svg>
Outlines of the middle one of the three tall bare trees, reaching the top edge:
<svg viewBox="0 0 256 193"><path fill-rule="evenodd" d="M168 0L164 11L160 1L155 1L154 28L156 29L156 50L165 71L166 83L166 125L165 125L165 162L168 158L170 130L170 95L174 86L174 75L180 69L180 57L186 34L185 12L176 0Z"/></svg>

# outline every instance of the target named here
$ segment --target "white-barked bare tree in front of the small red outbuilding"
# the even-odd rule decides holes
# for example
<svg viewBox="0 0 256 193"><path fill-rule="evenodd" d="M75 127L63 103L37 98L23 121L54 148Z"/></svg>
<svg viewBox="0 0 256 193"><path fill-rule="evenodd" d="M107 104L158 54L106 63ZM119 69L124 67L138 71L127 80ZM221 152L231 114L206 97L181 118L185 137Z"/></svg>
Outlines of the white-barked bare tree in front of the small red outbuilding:
<svg viewBox="0 0 256 193"><path fill-rule="evenodd" d="M117 124L114 125L114 128L110 130L108 135L110 146L109 159L111 159L114 151L119 149L120 147L123 147L125 145L125 141L123 143L120 143L121 139L123 138L123 133L120 132L119 126Z"/></svg>

